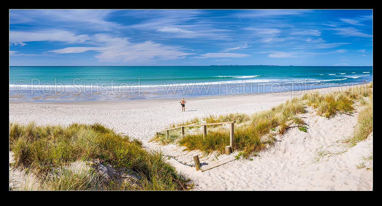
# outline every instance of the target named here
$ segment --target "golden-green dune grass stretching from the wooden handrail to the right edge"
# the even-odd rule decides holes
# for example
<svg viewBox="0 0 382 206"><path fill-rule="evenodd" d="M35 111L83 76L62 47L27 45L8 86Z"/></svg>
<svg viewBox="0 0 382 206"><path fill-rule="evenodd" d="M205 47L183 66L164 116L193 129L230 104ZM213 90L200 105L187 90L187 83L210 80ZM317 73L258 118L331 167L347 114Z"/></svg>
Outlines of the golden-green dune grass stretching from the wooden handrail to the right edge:
<svg viewBox="0 0 382 206"><path fill-rule="evenodd" d="M307 93L303 97L287 100L285 103L273 107L270 110L261 111L252 115L247 114L227 114L201 119L194 118L190 121L172 124L169 128L186 124L204 124L214 122L236 121L235 124L235 150L240 150L244 158L266 150L274 146L275 135L284 134L289 128L298 127L301 132L309 132L309 127L298 114L305 112L305 106L312 106L318 114L327 118L335 116L337 113L353 113L355 101L361 105L372 104L372 82L370 84L351 87L342 92L333 92L322 95L318 92ZM369 108L368 107L368 108ZM370 119L371 115L371 119ZM360 114L361 119L359 129L356 132L354 140L362 141L372 131L372 105ZM368 118L368 119L367 119ZM371 127L370 127L371 123ZM170 135L166 137L165 133L160 133L153 137L152 141L161 144L176 143L185 146L186 150L201 150L205 154L213 151L223 153L225 146L229 145L229 131L227 127L214 125L207 126L208 132L203 137L201 132L186 132L185 137L181 137L180 129L170 130ZM364 137L364 135L366 137Z"/></svg>

